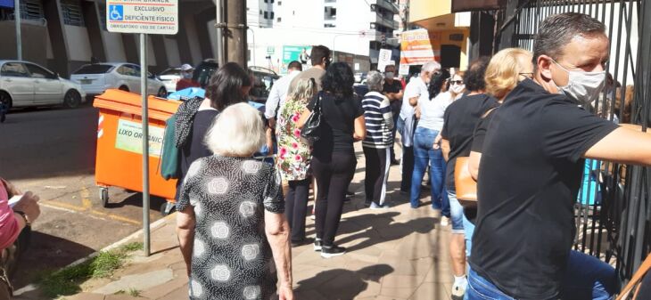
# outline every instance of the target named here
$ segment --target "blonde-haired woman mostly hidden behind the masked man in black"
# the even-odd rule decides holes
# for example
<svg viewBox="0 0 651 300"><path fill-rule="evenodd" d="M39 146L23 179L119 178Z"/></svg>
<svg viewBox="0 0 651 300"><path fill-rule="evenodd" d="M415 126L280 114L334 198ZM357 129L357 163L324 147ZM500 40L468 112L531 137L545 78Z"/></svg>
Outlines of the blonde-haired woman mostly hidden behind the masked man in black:
<svg viewBox="0 0 651 300"><path fill-rule="evenodd" d="M507 48L496 53L486 67L486 93L490 93L502 103L516 85L533 75L532 53L522 48ZM474 180L479 174L479 161L482 158L483 138L490 124L492 112L489 110L474 129L473 145L468 158L468 168Z"/></svg>

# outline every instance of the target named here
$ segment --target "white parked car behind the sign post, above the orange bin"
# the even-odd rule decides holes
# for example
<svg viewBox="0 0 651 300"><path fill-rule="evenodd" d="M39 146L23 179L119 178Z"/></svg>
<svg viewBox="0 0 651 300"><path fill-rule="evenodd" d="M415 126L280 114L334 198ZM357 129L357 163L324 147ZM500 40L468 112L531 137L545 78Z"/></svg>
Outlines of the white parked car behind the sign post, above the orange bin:
<svg viewBox="0 0 651 300"><path fill-rule="evenodd" d="M147 75L147 94L167 97L165 85L153 75ZM91 95L104 93L110 88L140 93L140 66L128 62L87 64L74 71L70 80L81 85Z"/></svg>

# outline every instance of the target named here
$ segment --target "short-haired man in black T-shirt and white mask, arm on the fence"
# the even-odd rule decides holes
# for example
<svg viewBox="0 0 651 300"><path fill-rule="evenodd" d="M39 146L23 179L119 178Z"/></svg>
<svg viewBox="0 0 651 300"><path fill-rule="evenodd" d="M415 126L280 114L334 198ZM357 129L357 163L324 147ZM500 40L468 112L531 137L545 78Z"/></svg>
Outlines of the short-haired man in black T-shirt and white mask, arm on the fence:
<svg viewBox="0 0 651 300"><path fill-rule="evenodd" d="M579 105L606 78L604 24L561 13L540 24L534 76L508 94L486 134L467 299L609 299L614 269L572 251L583 158L651 165L651 137Z"/></svg>

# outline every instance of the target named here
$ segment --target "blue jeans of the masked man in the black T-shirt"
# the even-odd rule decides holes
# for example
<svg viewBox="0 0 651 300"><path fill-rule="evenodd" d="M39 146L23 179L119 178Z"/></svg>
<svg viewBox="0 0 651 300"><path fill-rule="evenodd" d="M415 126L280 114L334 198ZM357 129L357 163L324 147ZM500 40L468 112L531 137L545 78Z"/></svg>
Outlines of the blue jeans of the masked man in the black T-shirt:
<svg viewBox="0 0 651 300"><path fill-rule="evenodd" d="M562 300L607 300L617 288L614 268L594 256L572 251L567 261L559 296ZM465 300L515 300L471 268ZM551 299L540 299L551 300Z"/></svg>

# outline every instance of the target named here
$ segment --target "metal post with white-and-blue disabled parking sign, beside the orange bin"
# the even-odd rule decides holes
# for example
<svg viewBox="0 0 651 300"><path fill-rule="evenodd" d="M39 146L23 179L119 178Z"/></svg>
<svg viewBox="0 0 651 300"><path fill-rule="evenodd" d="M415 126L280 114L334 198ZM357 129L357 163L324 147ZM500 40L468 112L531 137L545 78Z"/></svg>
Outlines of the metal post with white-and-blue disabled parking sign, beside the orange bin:
<svg viewBox="0 0 651 300"><path fill-rule="evenodd" d="M110 32L140 34L140 93L143 96L143 232L144 255L149 256L149 106L147 103L147 35L176 35L178 0L111 0L106 2Z"/></svg>

